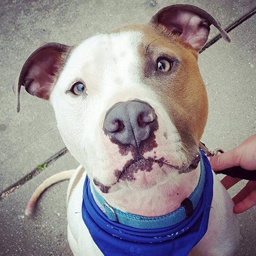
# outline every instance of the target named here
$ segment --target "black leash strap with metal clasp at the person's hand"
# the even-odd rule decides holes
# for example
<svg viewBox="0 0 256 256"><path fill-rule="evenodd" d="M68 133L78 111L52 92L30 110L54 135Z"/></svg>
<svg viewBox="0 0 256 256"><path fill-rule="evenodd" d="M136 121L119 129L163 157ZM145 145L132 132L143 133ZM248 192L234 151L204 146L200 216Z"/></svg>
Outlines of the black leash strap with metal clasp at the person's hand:
<svg viewBox="0 0 256 256"><path fill-rule="evenodd" d="M218 153L224 153L220 148L213 151L207 149L203 142L199 142L199 148L201 148L207 156L215 156ZM243 179L243 180L253 180L256 181L256 170L249 171L243 169L241 166L234 166L220 171L214 171L216 174L225 174L233 178Z"/></svg>

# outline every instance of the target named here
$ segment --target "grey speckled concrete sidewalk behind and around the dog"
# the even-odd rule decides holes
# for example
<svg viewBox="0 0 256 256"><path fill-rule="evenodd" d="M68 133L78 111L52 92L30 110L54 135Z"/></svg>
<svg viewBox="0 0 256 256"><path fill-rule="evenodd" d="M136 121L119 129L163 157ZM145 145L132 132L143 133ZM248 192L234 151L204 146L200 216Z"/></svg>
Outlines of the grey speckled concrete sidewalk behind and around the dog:
<svg viewBox="0 0 256 256"><path fill-rule="evenodd" d="M22 178L24 185L0 201L0 255L71 255L66 236L67 183L44 194L33 219L23 210L31 193L55 172L77 166L57 130L49 103L21 93L21 113L15 113L11 85L23 62L40 42L76 44L86 37L130 23L145 23L163 6L177 1L1 1L0 3L0 194ZM230 3L229 3L230 2ZM209 11L223 27L239 24L256 2L184 1ZM199 57L209 94L209 121L203 141L227 150L255 133L256 16L229 34L231 44L214 43ZM217 35L212 29L210 39ZM38 175L28 175L55 155L54 163ZM232 191L234 194L241 184ZM53 207L54 206L54 207ZM239 215L241 249L237 255L255 255L254 210Z"/></svg>

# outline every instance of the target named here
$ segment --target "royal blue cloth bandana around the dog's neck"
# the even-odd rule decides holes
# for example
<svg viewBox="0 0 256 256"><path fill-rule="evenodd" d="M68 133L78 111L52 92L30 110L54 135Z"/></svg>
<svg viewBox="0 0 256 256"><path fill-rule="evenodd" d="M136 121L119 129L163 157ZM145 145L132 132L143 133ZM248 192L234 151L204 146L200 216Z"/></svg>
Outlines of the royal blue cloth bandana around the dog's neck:
<svg viewBox="0 0 256 256"><path fill-rule="evenodd" d="M186 207L183 206L174 211L173 213L175 214L170 213L156 218L142 217L117 210L125 214L126 219L131 218L130 215L132 217L135 215L137 219L139 218L139 223L141 223L141 220L145 221L145 223L154 220L154 222L156 221L156 223L162 225L163 219L171 220L169 222L170 225L165 225L164 227L160 226L160 228L145 228L147 225L144 228L138 228L136 227L138 221L134 222L135 224L127 226L110 220L111 218L107 217L107 215L100 210L97 203L95 203L90 188L90 180L86 177L84 183L82 217L94 243L99 247L103 255L187 256L189 254L207 231L213 195L213 175L211 166L202 150L200 150L200 153L202 159L201 177L199 180L202 180L203 177L202 194L200 193L201 196L198 198L198 203L195 208L193 207L193 213L191 213L189 217L186 218L186 215L185 218L182 217L183 212L187 212ZM199 181L198 185L199 183L202 182ZM191 194L191 196L193 196L193 194ZM112 209L111 206L110 209ZM118 213L118 216L121 213ZM117 215L115 214L115 218L116 217ZM177 217L183 220L175 223L177 222ZM172 222L170 218L174 218L176 221ZM172 223L175 223L175 225L172 225Z"/></svg>

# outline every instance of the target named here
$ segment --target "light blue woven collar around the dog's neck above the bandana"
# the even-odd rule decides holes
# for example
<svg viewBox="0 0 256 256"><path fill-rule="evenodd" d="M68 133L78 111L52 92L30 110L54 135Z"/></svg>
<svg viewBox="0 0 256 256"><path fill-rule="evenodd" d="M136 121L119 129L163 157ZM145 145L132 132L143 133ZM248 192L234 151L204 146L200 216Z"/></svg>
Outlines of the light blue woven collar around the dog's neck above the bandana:
<svg viewBox="0 0 256 256"><path fill-rule="evenodd" d="M202 196L204 182L205 166L203 164L203 161L201 161L201 174L198 184L193 193L188 198L184 199L184 201L181 203L181 206L177 210L160 217L143 217L141 215L120 211L114 206L109 205L106 200L98 193L94 186L91 186L91 189L93 190L93 195L95 199L97 199L102 209L105 209L106 215L109 220L121 223L129 227L150 229L164 228L176 225L179 222L190 217Z"/></svg>

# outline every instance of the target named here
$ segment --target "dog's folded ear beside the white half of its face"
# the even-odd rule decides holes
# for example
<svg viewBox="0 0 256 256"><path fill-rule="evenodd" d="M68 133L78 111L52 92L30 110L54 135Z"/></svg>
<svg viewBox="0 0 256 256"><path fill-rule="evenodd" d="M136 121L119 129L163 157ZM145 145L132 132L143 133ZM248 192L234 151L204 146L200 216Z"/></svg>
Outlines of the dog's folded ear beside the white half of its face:
<svg viewBox="0 0 256 256"><path fill-rule="evenodd" d="M61 68L63 67L71 46L48 43L35 50L23 65L19 78L13 84L17 97L17 111L20 111L20 89L31 95L48 100Z"/></svg>

